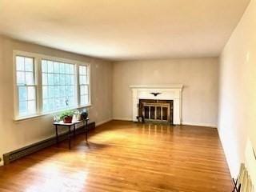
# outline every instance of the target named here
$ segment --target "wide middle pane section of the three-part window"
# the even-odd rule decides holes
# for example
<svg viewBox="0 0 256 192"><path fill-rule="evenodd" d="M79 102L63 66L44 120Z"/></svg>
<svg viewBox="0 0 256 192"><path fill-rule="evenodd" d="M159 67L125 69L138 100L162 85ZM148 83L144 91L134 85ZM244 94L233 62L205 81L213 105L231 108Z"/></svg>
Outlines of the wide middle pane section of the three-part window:
<svg viewBox="0 0 256 192"><path fill-rule="evenodd" d="M74 71L74 64L42 60L43 112L75 107Z"/></svg>

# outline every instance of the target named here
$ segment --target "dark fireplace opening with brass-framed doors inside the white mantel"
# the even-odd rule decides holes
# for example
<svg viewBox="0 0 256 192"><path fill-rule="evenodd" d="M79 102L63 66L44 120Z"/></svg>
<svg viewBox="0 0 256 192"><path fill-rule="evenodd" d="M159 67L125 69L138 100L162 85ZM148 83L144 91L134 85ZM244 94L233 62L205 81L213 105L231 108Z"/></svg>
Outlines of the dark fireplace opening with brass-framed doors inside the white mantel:
<svg viewBox="0 0 256 192"><path fill-rule="evenodd" d="M142 122L168 122L173 124L173 100L139 99L138 118Z"/></svg>

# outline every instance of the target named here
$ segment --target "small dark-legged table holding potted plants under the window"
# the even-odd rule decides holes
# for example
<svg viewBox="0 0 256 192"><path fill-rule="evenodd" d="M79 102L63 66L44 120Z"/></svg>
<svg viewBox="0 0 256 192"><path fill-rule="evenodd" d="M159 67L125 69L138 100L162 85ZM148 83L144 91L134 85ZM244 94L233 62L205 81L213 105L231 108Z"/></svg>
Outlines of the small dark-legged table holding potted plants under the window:
<svg viewBox="0 0 256 192"><path fill-rule="evenodd" d="M55 126L55 131L56 131L56 143L58 143L58 127L59 126L66 126L69 128L69 133L68 133L68 139L69 139L69 148L71 149L71 127L73 126L74 129L73 129L73 134L75 136L75 129L76 129L76 125L78 123L83 123L83 126L85 127L85 131L86 131L86 142L87 142L87 134L88 134L88 121L89 121L89 118L86 118L85 120L82 120L82 121L77 121L77 122L71 122L71 123L64 123L64 122L54 122L54 126ZM86 125L85 125L85 122L86 122Z"/></svg>

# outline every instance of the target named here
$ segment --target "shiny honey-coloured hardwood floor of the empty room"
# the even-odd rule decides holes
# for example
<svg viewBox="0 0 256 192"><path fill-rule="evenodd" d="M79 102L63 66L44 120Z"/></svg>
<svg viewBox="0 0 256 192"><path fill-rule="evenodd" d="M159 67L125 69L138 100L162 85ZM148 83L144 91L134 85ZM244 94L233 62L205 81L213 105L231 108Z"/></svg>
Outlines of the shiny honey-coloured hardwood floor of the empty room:
<svg viewBox="0 0 256 192"><path fill-rule="evenodd" d="M231 191L215 129L112 121L0 167L0 191Z"/></svg>

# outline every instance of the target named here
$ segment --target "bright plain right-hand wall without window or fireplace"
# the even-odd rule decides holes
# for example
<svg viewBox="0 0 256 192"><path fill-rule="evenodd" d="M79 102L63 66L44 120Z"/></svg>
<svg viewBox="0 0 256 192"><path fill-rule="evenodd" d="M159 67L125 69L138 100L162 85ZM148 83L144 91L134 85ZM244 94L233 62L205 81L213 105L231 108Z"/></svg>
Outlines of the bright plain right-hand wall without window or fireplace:
<svg viewBox="0 0 256 192"><path fill-rule="evenodd" d="M233 177L250 138L256 149L256 1L222 51L218 131Z"/></svg>

